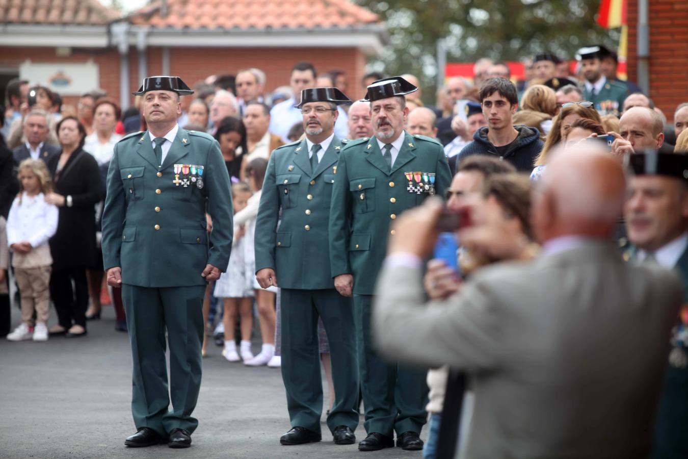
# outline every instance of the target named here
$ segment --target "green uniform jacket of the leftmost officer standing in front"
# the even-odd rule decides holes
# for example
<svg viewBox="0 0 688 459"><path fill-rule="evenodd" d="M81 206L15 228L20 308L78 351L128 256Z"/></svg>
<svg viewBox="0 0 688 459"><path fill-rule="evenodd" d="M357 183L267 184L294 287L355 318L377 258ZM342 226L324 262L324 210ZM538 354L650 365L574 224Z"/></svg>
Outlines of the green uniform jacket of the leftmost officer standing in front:
<svg viewBox="0 0 688 459"><path fill-rule="evenodd" d="M175 164L202 166L202 175ZM202 188L192 178L203 182ZM184 186L184 178L189 181ZM206 209L213 218L208 250ZM206 264L225 270L232 249L233 206L227 168L217 141L180 128L162 167L148 132L120 140L107 171L103 263L122 268L122 283L141 287L206 284Z"/></svg>

